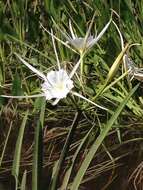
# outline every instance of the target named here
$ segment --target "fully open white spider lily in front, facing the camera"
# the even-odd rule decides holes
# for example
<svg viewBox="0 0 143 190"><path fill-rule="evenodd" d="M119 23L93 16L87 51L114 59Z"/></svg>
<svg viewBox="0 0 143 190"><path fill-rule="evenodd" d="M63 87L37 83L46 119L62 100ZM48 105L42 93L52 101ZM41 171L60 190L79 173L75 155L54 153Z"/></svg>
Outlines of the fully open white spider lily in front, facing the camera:
<svg viewBox="0 0 143 190"><path fill-rule="evenodd" d="M17 53L15 55L21 60L23 64L25 64L31 71L37 74L44 82L41 84L41 94L37 95L30 95L30 96L7 96L7 95L0 95L0 97L6 98L35 98L35 97L45 97L46 100L55 99L52 105L56 105L61 99L66 98L69 93L86 100L87 102L101 108L107 110L106 108L88 100L84 96L80 95L77 92L73 92L72 89L74 88L72 77L76 72L80 60L76 63L71 73L68 75L66 70L59 69L57 71L49 71L47 75L44 75L29 63L27 63L23 58L20 57Z"/></svg>

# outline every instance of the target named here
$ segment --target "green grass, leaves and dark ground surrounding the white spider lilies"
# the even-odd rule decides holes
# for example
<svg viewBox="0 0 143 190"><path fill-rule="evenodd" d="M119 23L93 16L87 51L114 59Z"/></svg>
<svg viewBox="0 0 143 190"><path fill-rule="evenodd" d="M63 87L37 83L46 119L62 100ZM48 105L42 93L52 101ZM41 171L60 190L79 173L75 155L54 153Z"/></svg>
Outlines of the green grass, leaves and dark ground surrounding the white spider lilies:
<svg viewBox="0 0 143 190"><path fill-rule="evenodd" d="M94 12L92 34L99 33L111 16L125 43L140 43L129 56L142 67L143 2L133 0L5 0L0 1L0 93L33 95L41 80L14 55L45 74L57 67L51 36L55 23L69 32L69 19L78 36L85 36ZM79 55L56 41L63 68L71 71ZM105 85L110 68L121 52L118 32L111 23L97 45L84 57L84 92L109 109L101 110L68 96L57 106L44 98L0 97L0 187L2 190L140 189L142 187L142 81L123 74L122 61ZM77 75L80 71L77 71ZM105 87L105 86L104 86ZM136 169L137 168L137 169ZM136 169L136 170L135 170Z"/></svg>

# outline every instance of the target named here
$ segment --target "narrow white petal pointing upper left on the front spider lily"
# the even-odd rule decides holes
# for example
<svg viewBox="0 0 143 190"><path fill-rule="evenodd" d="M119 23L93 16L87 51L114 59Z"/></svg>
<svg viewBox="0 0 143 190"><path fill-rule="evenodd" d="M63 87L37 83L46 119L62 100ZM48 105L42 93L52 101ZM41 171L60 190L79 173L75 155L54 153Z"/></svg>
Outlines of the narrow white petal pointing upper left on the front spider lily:
<svg viewBox="0 0 143 190"><path fill-rule="evenodd" d="M31 71L33 71L34 73L36 73L39 77L41 77L42 79L44 79L45 81L47 80L46 76L41 73L40 71L38 71L37 69L35 69L33 66L31 66L29 63L27 63L24 59L22 59L22 57L20 57L20 55L18 55L17 53L15 53L15 55L20 59L20 61L22 61L22 63L24 65L26 65Z"/></svg>

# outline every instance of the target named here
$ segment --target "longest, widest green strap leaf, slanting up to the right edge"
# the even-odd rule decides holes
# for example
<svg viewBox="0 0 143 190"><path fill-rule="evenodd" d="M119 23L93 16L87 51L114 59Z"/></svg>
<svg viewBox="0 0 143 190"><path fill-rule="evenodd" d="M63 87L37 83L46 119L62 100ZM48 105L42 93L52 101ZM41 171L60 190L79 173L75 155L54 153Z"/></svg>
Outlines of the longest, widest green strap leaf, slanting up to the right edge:
<svg viewBox="0 0 143 190"><path fill-rule="evenodd" d="M99 146L102 144L104 138L107 136L108 132L110 131L110 129L112 128L112 125L114 124L114 122L116 121L116 119L118 118L118 116L120 115L121 111L123 110L123 108L125 107L125 105L127 104L128 100L130 99L130 97L134 94L134 92L137 90L139 84L137 84L132 90L131 92L128 94L128 96L126 96L126 98L123 100L123 102L121 102L121 104L119 105L119 107L117 108L117 110L115 111L115 113L112 115L112 117L110 118L110 120L108 121L108 123L106 124L106 126L104 127L104 129L102 130L102 132L100 133L100 135L98 136L98 138L95 140L95 142L93 143L93 145L91 146L88 154L86 155L85 159L83 160L80 169L77 172L76 177L74 178L73 184L71 186L70 190L77 190L79 188L79 185L82 181L82 178L87 170L87 168L89 167L96 151L98 150Z"/></svg>

